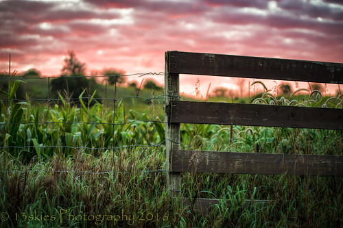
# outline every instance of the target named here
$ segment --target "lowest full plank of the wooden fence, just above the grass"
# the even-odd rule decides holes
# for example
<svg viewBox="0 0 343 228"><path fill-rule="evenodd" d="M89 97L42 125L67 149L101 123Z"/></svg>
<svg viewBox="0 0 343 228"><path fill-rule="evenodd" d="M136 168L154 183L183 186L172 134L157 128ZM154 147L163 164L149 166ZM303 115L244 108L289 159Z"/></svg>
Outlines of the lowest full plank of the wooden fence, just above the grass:
<svg viewBox="0 0 343 228"><path fill-rule="evenodd" d="M343 175L343 156L173 151L171 170L196 173Z"/></svg>

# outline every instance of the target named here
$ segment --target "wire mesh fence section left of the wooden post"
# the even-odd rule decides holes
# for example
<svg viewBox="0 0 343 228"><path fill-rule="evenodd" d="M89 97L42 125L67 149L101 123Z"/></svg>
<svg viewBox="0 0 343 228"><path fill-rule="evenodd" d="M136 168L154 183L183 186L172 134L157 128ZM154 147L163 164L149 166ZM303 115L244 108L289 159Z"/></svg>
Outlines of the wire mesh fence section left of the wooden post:
<svg viewBox="0 0 343 228"><path fill-rule="evenodd" d="M126 88L119 86L119 77L132 76L142 77L141 84ZM0 77L0 150L29 161L33 157L51 157L54 153L73 155L82 151L99 154L102 151L116 153L123 149L165 147L165 141L170 139L165 138L161 100L171 95L163 94L163 89L158 86L143 90L147 76L164 77L164 73ZM113 85L107 83L111 77L116 79ZM84 81L87 86L82 86ZM39 171L43 170L29 170ZM0 170L0 173L23 172L26 171ZM54 170L54 173L126 172Z"/></svg>

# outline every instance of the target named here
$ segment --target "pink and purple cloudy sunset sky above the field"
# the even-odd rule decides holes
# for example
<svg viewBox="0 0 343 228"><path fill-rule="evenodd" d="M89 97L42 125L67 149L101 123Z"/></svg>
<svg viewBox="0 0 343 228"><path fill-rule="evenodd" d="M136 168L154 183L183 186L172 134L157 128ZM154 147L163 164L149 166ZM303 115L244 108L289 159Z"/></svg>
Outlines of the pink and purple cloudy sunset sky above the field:
<svg viewBox="0 0 343 228"><path fill-rule="evenodd" d="M59 75L68 50L88 74L164 71L169 50L343 62L341 0L0 0L0 26L0 71L11 53Z"/></svg>

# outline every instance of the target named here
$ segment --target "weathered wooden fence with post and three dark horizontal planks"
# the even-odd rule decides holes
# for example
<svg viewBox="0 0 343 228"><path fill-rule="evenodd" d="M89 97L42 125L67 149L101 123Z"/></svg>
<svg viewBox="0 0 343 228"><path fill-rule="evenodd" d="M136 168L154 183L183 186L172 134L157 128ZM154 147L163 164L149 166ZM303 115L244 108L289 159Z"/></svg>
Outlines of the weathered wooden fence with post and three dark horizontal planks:
<svg viewBox="0 0 343 228"><path fill-rule="evenodd" d="M165 138L169 139L166 142L169 190L180 192L182 172L343 175L343 156L338 155L180 150L180 123L343 129L342 109L180 101L180 74L343 84L340 63L167 51ZM203 199L202 203L211 204L211 200Z"/></svg>

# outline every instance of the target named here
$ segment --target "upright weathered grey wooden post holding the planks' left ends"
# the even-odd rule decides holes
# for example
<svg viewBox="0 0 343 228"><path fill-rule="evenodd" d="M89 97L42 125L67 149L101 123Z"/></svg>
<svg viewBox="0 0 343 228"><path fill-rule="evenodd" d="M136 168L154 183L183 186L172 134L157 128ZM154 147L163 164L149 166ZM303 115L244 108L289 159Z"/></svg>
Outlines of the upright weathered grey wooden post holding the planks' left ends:
<svg viewBox="0 0 343 228"><path fill-rule="evenodd" d="M166 162L165 168L167 170L167 190L174 192L174 196L180 195L181 192L181 177L180 173L171 171L171 157L172 151L180 149L180 123L170 123L171 118L171 103L180 100L179 89L179 75L169 74L169 55L170 52L165 53L165 97L164 97L164 111L165 111L165 151Z"/></svg>

